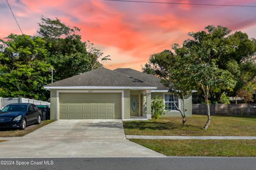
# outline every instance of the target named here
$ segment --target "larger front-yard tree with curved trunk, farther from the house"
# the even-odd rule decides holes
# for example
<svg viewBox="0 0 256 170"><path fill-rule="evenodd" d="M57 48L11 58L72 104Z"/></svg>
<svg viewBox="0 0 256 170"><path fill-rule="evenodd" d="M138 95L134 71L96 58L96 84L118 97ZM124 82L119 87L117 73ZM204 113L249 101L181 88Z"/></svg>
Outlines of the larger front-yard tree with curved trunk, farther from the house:
<svg viewBox="0 0 256 170"><path fill-rule="evenodd" d="M177 83L174 83L174 85L176 84L176 86L174 86L175 91L179 92L180 90L181 92L185 90L186 92L189 88L203 91L207 110L207 121L203 128L206 130L211 121L209 105L210 93L220 92L221 90L231 91L235 87L236 80L228 70L220 69L217 65L220 56L229 54L234 48L231 45L223 43L225 42L226 36L230 33L230 30L221 26L217 28L207 26L205 29L206 31L189 33L188 35L192 38L184 41L182 47L174 45L175 55L177 55L175 60L177 62L172 62L178 63L177 67L174 67L177 70L173 70L172 67L169 67L171 62L161 64L161 66L169 73L167 78L171 75L174 76L172 79L169 78L171 82L177 81ZM159 63L164 62L161 59ZM161 70L163 69L161 68ZM182 85L179 85L179 82L185 85L182 87Z"/></svg>

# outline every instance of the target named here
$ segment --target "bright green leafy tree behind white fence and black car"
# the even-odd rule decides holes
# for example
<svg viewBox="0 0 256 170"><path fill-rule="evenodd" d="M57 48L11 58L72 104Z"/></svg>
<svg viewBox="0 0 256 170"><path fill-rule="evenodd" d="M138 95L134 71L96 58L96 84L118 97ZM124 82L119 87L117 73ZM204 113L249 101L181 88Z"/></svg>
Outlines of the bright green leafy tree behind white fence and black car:
<svg viewBox="0 0 256 170"><path fill-rule="evenodd" d="M51 82L52 66L45 60L45 41L14 34L6 39L0 40L0 96L46 100L49 92L43 86Z"/></svg>

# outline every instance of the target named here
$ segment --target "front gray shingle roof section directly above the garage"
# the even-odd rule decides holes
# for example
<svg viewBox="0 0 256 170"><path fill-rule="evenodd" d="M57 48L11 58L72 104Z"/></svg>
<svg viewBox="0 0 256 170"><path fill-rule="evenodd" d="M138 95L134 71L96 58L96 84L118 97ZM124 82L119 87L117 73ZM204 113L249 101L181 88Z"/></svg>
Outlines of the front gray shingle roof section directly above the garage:
<svg viewBox="0 0 256 170"><path fill-rule="evenodd" d="M135 71L135 70L134 70ZM48 84L47 87L56 86L125 86L125 87L156 87L135 76L127 76L122 72L112 71L106 68L85 72L81 75L73 76Z"/></svg>

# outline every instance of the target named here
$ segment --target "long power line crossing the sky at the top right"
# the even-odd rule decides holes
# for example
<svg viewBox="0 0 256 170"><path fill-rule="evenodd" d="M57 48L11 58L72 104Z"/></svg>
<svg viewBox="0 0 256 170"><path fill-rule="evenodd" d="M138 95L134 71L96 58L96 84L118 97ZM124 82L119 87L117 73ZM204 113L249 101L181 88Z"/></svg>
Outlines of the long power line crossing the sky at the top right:
<svg viewBox="0 0 256 170"><path fill-rule="evenodd" d="M127 1L127 0L103 0L103 1L130 2L130 3L151 3L151 4L174 4L174 5L256 7L256 6L253 6L253 5L196 4L196 3L175 3L175 2L155 2L155 1Z"/></svg>

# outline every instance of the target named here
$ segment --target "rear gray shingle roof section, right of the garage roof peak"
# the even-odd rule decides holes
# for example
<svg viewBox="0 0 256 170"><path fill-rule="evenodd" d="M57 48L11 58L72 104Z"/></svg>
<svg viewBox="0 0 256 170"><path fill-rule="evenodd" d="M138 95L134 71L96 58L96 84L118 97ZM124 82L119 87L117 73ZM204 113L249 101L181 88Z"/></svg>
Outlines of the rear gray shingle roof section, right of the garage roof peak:
<svg viewBox="0 0 256 170"><path fill-rule="evenodd" d="M169 88L167 88L161 83L161 80L158 77L146 74L145 72L140 72L130 68L118 68L118 69L115 69L114 71L131 76L133 78L140 79L143 82L153 84L154 86L157 87L157 90L169 90Z"/></svg>

